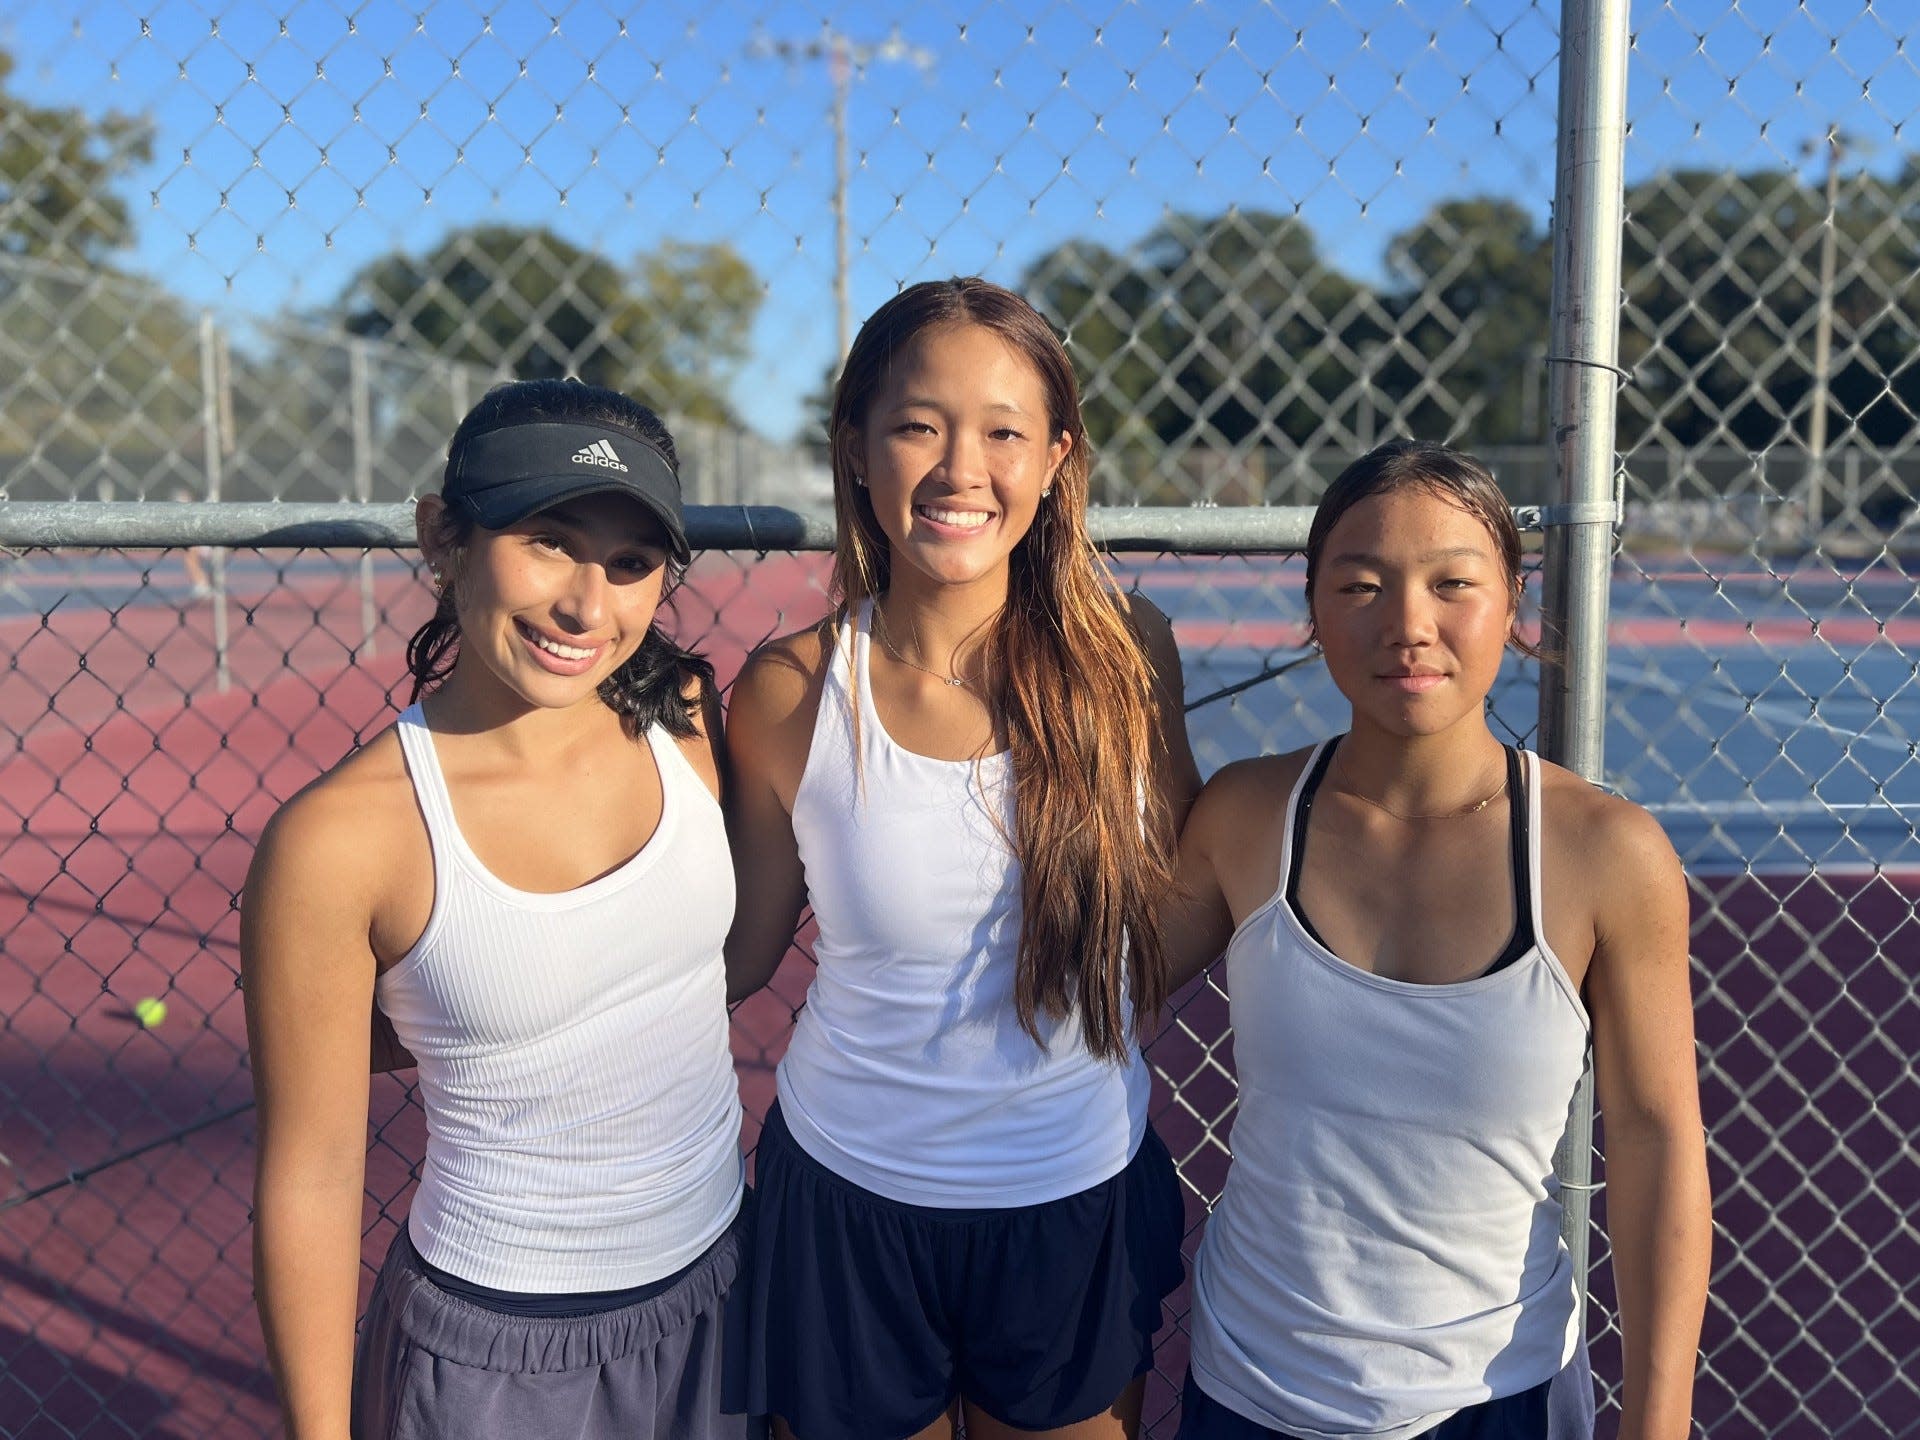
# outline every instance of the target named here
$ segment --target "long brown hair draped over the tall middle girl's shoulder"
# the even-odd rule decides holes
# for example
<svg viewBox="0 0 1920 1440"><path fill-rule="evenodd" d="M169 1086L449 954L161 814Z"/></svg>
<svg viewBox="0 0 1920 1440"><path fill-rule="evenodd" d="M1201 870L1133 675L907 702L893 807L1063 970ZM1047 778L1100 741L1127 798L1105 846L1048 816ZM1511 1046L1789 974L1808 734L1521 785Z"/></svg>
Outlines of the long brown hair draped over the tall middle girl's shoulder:
<svg viewBox="0 0 1920 1440"><path fill-rule="evenodd" d="M1025 300L979 278L902 290L860 326L833 390L833 597L839 616L891 580L887 536L854 482L852 442L893 357L914 336L977 324L1021 353L1046 392L1048 440L1071 445L1033 528L1010 557L1006 607L989 653L991 703L1014 770L1014 856L1021 920L1014 1012L1075 1008L1087 1048L1125 1058L1140 1018L1167 998L1160 904L1173 885L1173 822L1154 780L1152 672L1087 536L1091 453L1073 363ZM1135 1018L1129 1025L1127 1014Z"/></svg>

